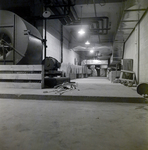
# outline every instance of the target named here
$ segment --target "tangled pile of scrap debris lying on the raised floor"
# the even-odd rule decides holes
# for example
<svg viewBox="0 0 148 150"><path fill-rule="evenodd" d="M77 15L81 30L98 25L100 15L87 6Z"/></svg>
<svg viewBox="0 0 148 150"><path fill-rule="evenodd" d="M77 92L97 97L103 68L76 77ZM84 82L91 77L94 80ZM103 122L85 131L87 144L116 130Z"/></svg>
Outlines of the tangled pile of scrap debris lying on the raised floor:
<svg viewBox="0 0 148 150"><path fill-rule="evenodd" d="M64 82L62 84L56 85L53 91L43 91L43 93L55 92L55 94L62 95L65 92L77 89L78 84L76 82Z"/></svg>

